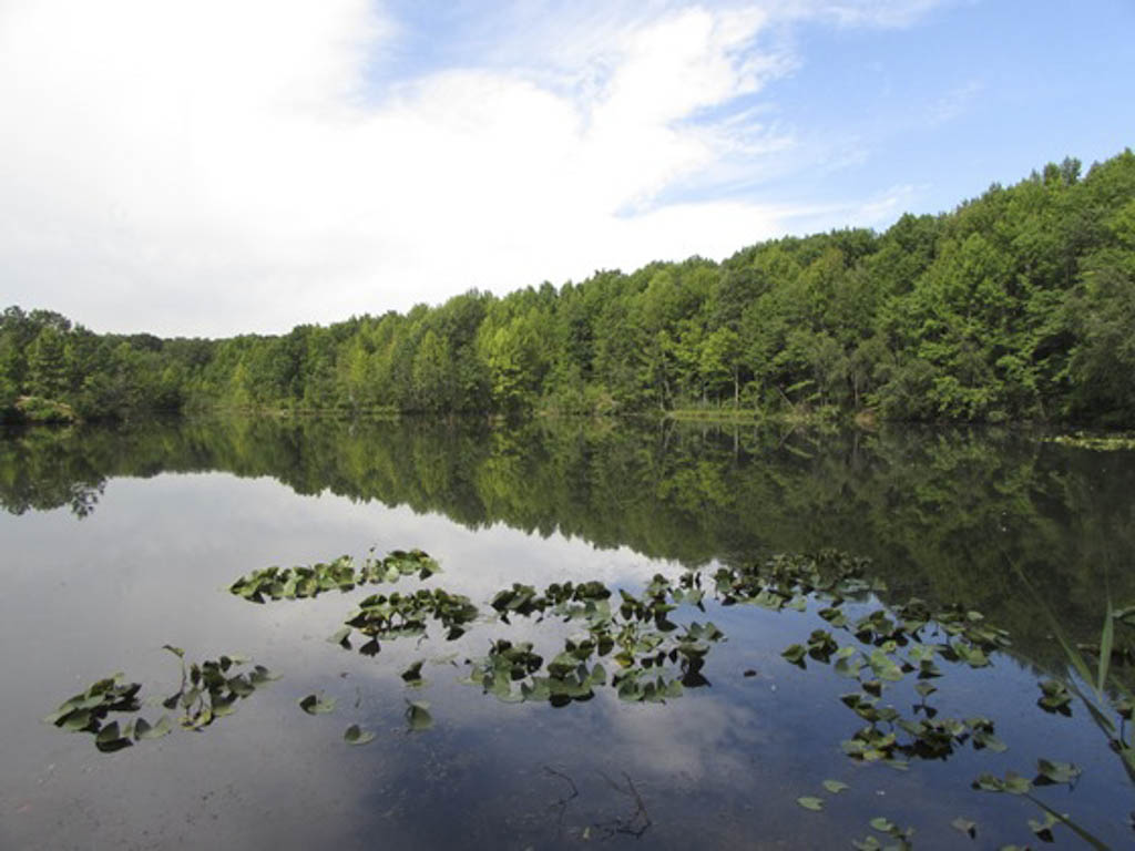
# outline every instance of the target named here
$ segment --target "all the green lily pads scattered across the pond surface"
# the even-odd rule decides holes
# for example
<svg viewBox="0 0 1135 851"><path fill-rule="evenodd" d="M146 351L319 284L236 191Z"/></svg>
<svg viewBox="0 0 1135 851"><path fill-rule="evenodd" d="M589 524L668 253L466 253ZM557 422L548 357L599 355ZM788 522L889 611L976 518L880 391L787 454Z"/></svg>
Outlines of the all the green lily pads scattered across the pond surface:
<svg viewBox="0 0 1135 851"><path fill-rule="evenodd" d="M938 692L935 681L943 675L942 664L986 667L993 654L1009 646L1007 633L986 623L981 613L960 606L932 610L923 600L911 599L906 605L884 607L877 595L885 588L868 579L867 564L865 559L833 550L816 556L773 556L741 566L720 566L712 574L688 571L676 580L655 575L638 595L625 589L612 591L597 581L552 583L543 590L518 582L495 593L489 601L491 612L485 614L468 597L440 588L372 593L330 640L350 648L351 635L358 631L367 639L360 651L377 655L380 639L420 639L428 634L432 623L443 627L447 640L454 640L479 620L511 624L513 618L530 618L536 623L556 618L577 632L564 638L562 649L550 658L545 658L529 641L497 637L490 640L485 656L465 659L469 672L463 682L503 702L541 701L563 707L589 700L604 686L611 686L625 701L665 702L682 696L688 688L707 684L701 673L706 658L724 639L713 623L679 624L672 620L683 606L705 612L707 591L703 581L708 578L708 593L723 606L751 605L774 612L816 607L827 629L814 630L805 641L785 648L782 656L800 668L806 668L809 662L831 665L836 674L856 683L856 690L840 697L865 722L865 726L841 743L849 758L905 769L911 759L945 759L967 744L975 750L1004 750L990 718L939 717L939 709L928 699ZM257 603L266 598L312 598L328 590L350 591L411 575L424 580L437 571L437 563L421 550L395 550L381 559L368 557L360 568L346 556L312 566L269 567L238 579L229 590ZM1075 657L1077 671L1098 696L1103 694L1108 664L1113 657L1123 659L1127 650L1112 634L1115 623L1135 625L1135 609L1109 609L1100 646L1081 648L1100 659L1098 683L1093 685L1086 664L1078 655ZM169 709L180 706L184 713L180 723L187 728L201 730L230 714L239 699L272 679L261 666L237 672L246 662L239 657L222 656L186 667L178 648L167 646L167 649L182 658L182 684L163 705ZM402 672L409 686L424 684L422 664L415 662ZM883 702L883 697L886 689L908 676L915 681L913 689L919 702L903 714ZM1094 708L1076 681L1050 679L1040 686L1037 703L1046 711L1068 715L1075 698ZM132 738L165 735L171 727L168 716L152 726L141 717L125 727L108 719L112 713L136 713L141 708L138 690L136 683L126 683L120 675L99 681L65 701L48 721L65 730L93 733L100 750L127 747ZM299 705L310 715L335 709L334 698L317 694L300 699ZM1124 721L1130 718L1132 706L1126 697L1111 699L1110 706ZM1093 718L1098 716L1102 717L1099 709ZM427 730L434 723L424 701L407 700L405 718L411 731ZM1123 731L1109 727L1108 732L1126 759L1129 745ZM356 724L344 733L350 744L365 744L373 739L373 733ZM1073 785L1078 776L1079 769L1071 764L1041 759L1032 780L1011 773L1003 778L983 774L973 785L981 791L1018 794L1033 801L1045 814L1044 820L1029 820L1041 840L1050 840L1052 827L1060 823L1082 837L1090 837L1068 816L1056 812L1032 794L1036 786ZM833 794L847 789L840 781L825 781L824 786ZM823 799L818 797L805 795L798 802L806 809L823 809ZM873 851L883 849L884 842L886 849L910 846L910 829L899 828L882 817L873 819L871 825L885 839L868 835L856 840L852 843L856 848ZM953 826L970 837L976 835L976 825L965 818L956 819Z"/></svg>

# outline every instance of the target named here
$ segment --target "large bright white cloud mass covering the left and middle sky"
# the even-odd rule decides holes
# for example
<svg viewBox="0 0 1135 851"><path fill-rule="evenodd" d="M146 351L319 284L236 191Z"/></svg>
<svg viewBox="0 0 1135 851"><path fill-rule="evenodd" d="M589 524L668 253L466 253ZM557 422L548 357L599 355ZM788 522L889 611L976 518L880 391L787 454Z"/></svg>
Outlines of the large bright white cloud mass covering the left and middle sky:
<svg viewBox="0 0 1135 851"><path fill-rule="evenodd" d="M784 12L648 14L577 14L545 66L507 61L512 32L495 61L384 85L405 32L362 0L9 2L0 302L278 331L782 233L775 205L657 199L791 145L743 113L698 120L792 67L757 48Z"/></svg>

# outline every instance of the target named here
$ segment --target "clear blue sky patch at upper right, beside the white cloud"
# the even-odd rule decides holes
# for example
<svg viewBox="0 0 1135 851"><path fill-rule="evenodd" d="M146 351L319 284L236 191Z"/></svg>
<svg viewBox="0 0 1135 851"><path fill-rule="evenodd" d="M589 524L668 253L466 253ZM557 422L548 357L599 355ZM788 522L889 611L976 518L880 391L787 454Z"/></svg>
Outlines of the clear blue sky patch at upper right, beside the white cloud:
<svg viewBox="0 0 1135 851"><path fill-rule="evenodd" d="M863 159L777 191L858 197L888 179L917 212L952 209L993 180L1135 141L1135 3L1002 0L943 5L907 28L808 26L809 58L768 92L817 140ZM806 183L807 182L807 183Z"/></svg>

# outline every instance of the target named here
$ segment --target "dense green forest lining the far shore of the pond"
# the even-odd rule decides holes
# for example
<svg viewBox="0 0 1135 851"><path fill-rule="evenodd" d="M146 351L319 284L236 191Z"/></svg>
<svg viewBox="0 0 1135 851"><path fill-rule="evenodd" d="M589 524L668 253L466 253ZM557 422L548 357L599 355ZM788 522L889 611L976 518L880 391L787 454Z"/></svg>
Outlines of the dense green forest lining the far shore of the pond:
<svg viewBox="0 0 1135 851"><path fill-rule="evenodd" d="M128 310L128 306L124 305ZM0 317L0 420L682 411L1135 426L1135 154L843 229L278 336Z"/></svg>

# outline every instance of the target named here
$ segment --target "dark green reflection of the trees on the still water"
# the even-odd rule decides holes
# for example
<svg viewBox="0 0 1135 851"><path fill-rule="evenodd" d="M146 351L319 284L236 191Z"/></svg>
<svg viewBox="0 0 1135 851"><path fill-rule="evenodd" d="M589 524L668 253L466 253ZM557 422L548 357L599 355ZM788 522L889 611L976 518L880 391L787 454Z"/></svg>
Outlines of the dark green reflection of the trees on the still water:
<svg viewBox="0 0 1135 851"><path fill-rule="evenodd" d="M1010 561L1081 640L1103 589L1135 598L1130 454L1006 430L269 418L35 430L0 440L0 504L83 516L108 478L209 470L687 565L838 547L869 556L897 600L965 600L1049 665L1060 657Z"/></svg>

